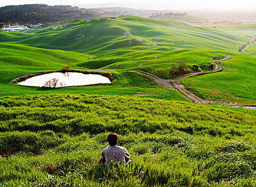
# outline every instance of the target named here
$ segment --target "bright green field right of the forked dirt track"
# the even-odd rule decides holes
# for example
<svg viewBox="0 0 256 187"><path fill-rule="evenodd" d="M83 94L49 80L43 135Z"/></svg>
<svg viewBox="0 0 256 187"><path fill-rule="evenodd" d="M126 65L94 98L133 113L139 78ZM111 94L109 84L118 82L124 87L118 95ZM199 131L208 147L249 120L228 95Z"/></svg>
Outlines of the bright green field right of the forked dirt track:
<svg viewBox="0 0 256 187"><path fill-rule="evenodd" d="M256 59L235 54L223 66L222 72L188 77L182 83L204 99L255 104Z"/></svg>

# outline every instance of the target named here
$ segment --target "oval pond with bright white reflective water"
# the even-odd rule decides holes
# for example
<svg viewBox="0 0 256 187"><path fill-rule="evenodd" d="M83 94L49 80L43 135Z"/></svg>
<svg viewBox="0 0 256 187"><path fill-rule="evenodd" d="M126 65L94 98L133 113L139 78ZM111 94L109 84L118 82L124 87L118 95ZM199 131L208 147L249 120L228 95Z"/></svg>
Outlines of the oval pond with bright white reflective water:
<svg viewBox="0 0 256 187"><path fill-rule="evenodd" d="M32 85L35 87L57 88L71 87L76 85L91 85L99 83L111 83L111 81L107 77L97 74L82 74L77 72L55 72L34 76L17 84Z"/></svg>

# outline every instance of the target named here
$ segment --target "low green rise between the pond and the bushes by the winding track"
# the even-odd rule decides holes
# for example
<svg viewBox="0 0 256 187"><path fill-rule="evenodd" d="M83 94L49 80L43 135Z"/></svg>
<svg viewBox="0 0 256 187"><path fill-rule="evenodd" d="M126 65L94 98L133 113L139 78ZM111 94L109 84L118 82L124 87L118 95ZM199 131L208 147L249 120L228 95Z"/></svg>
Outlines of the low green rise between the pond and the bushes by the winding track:
<svg viewBox="0 0 256 187"><path fill-rule="evenodd" d="M193 64L203 66L210 61L211 57L221 56L222 54L220 51L208 52L202 50L162 51L161 48L143 51L116 50L95 56L77 65L92 69L140 69L156 74L163 79L170 79L169 71L171 67L180 61L185 61L189 66ZM204 68L202 67L202 69Z"/></svg>

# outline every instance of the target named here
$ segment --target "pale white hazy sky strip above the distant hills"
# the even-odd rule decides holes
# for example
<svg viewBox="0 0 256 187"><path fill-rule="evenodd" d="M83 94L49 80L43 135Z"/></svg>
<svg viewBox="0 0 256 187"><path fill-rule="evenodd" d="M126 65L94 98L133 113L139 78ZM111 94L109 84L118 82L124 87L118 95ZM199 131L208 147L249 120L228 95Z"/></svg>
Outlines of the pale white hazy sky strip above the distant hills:
<svg viewBox="0 0 256 187"><path fill-rule="evenodd" d="M0 6L43 3L49 5L71 4L83 7L123 6L137 9L250 9L256 11L255 0L9 0L0 1Z"/></svg>

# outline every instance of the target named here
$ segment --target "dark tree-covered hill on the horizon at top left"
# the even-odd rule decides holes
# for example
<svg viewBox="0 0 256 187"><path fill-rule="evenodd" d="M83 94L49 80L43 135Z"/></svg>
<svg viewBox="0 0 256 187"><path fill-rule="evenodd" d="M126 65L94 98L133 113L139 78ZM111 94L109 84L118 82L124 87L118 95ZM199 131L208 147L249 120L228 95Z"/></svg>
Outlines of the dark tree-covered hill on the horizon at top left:
<svg viewBox="0 0 256 187"><path fill-rule="evenodd" d="M37 24L65 20L99 18L102 13L93 9L80 9L78 6L46 4L11 5L0 7L0 22Z"/></svg>

